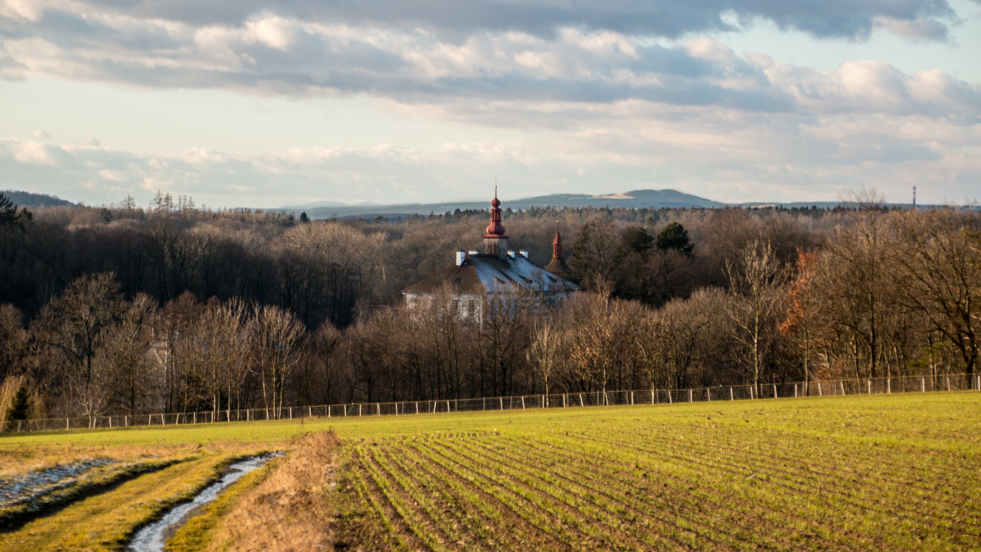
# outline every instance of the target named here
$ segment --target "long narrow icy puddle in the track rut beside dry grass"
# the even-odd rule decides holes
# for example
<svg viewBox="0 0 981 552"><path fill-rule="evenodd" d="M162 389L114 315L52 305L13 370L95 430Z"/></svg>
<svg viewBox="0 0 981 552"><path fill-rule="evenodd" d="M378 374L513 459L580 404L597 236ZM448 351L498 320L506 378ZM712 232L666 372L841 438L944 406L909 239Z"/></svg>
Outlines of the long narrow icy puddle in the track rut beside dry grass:
<svg viewBox="0 0 981 552"><path fill-rule="evenodd" d="M194 510L218 498L218 495L226 487L237 481L242 475L262 468L267 462L278 456L283 456L283 453L264 454L233 463L221 479L205 487L190 502L175 506L160 521L146 525L136 531L136 534L129 540L127 549L135 552L162 552L167 539L187 522Z"/></svg>

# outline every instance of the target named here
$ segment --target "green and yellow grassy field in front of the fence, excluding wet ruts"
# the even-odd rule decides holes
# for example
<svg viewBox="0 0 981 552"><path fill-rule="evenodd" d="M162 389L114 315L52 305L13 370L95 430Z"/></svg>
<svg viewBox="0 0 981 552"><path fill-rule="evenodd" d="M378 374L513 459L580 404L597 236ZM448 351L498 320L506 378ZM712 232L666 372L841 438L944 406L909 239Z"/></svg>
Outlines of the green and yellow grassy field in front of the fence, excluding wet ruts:
<svg viewBox="0 0 981 552"><path fill-rule="evenodd" d="M118 549L233 456L278 448L172 548L981 549L979 425L963 392L19 434L0 476L174 463L0 549Z"/></svg>

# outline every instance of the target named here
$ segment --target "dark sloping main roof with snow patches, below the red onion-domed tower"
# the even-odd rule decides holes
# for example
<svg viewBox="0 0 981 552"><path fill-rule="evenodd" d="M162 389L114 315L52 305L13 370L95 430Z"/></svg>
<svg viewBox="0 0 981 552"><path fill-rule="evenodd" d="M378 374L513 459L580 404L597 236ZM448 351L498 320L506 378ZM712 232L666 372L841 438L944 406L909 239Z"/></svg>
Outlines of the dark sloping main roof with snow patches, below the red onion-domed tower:
<svg viewBox="0 0 981 552"><path fill-rule="evenodd" d="M540 293L563 293L579 286L552 274L521 254L499 259L495 255L467 255L460 266L443 268L425 280L402 290L403 294L432 294L448 284L460 294L486 295L519 285Z"/></svg>

